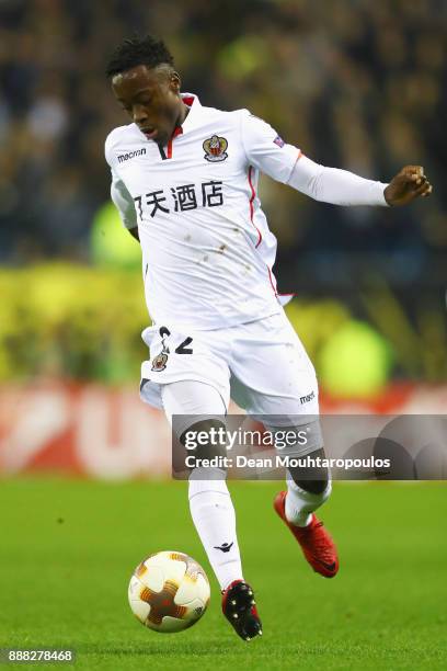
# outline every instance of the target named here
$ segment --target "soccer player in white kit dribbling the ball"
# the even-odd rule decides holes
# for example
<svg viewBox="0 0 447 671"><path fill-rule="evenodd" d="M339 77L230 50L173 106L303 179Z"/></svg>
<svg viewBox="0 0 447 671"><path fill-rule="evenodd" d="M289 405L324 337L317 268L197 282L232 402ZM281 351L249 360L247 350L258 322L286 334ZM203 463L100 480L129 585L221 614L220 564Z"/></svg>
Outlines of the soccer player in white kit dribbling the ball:
<svg viewBox="0 0 447 671"><path fill-rule="evenodd" d="M142 333L151 360L141 366L141 398L170 421L200 416L192 428L218 425L231 397L249 414L274 417L273 431L290 417L299 430L296 418L303 424L318 414L317 378L277 294L276 239L261 209L259 173L317 201L388 207L429 195L423 168L405 166L386 184L320 166L248 110L206 107L181 92L172 55L152 36L125 39L106 73L130 117L105 143L112 198L140 242L153 322ZM317 428L311 436L296 455L324 455ZM225 478L210 470L192 471L191 513L224 614L250 640L262 634L261 621ZM312 478L289 469L274 507L313 570L331 578L336 548L314 514L331 481L325 469Z"/></svg>

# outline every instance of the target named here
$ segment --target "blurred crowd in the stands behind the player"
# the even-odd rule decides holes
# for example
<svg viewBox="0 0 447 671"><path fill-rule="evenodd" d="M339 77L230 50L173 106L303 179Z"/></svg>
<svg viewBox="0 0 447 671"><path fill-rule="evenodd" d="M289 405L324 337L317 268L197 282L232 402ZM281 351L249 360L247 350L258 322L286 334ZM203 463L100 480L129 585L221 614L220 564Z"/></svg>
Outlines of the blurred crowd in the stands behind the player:
<svg viewBox="0 0 447 671"><path fill-rule="evenodd" d="M357 373L369 352L387 379L445 380L446 27L444 0L0 0L0 285L9 297L0 378L103 371L94 353L89 359L92 348L108 351L103 302L114 315L134 309L126 338L130 359L140 359L142 291L135 284L126 303L135 278L119 274L138 265L138 252L130 263L105 251L116 243L108 244L103 144L127 120L103 72L124 37L151 32L173 52L184 91L203 104L249 107L316 161L382 181L406 163L424 166L434 194L408 208L321 205L267 179L261 196L278 237L279 288L297 293L290 315L319 371L329 356L321 348L334 348L329 340L343 326L351 334L341 351ZM55 266L60 260L70 265ZM83 327L73 328L85 294ZM24 322L44 329L41 352L19 346L14 329ZM82 328L72 367L64 343ZM111 345L115 361L124 340ZM356 359L359 342L366 350ZM334 360L336 348L330 352ZM135 373L125 356L119 369Z"/></svg>

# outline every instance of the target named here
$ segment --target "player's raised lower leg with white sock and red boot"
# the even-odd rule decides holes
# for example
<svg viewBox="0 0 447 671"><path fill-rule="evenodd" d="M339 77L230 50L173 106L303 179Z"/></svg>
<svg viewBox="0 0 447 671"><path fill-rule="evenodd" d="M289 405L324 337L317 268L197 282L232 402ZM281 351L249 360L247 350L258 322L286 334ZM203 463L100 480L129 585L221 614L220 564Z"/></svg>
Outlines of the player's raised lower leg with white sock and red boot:
<svg viewBox="0 0 447 671"><path fill-rule="evenodd" d="M322 450L312 456L324 456ZM301 469L287 474L287 491L280 491L274 500L277 514L286 523L301 546L302 553L314 571L333 578L339 570L335 544L313 511L326 501L331 493L329 474L323 469L316 479L303 479Z"/></svg>

